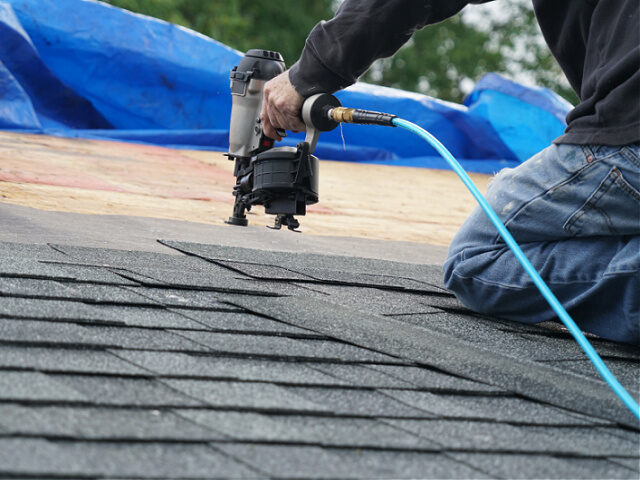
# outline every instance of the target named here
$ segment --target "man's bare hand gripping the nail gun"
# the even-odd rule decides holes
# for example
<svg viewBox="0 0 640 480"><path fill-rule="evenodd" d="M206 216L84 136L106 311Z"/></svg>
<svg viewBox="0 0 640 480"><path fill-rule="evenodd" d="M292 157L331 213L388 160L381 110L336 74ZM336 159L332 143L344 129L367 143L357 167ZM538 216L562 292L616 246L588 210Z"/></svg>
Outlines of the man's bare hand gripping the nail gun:
<svg viewBox="0 0 640 480"><path fill-rule="evenodd" d="M289 71L272 78L264 85L260 120L264 134L274 140L282 140L276 128L293 133L304 132L306 126L300 118L304 98L289 81Z"/></svg>

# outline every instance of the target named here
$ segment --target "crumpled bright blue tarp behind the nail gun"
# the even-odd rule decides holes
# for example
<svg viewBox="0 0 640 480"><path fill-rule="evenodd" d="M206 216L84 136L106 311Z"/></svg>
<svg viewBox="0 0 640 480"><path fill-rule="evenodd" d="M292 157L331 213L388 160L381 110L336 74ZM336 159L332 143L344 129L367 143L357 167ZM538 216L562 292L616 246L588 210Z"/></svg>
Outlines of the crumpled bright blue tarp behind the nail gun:
<svg viewBox="0 0 640 480"><path fill-rule="evenodd" d="M0 0L0 129L225 150L229 70L241 55L93 0ZM495 74L481 79L464 105L362 83L338 97L418 123L465 168L487 173L547 146L562 134L571 108L547 89ZM291 135L285 144L299 139ZM417 137L384 127L346 125L322 134L316 153L446 168Z"/></svg>

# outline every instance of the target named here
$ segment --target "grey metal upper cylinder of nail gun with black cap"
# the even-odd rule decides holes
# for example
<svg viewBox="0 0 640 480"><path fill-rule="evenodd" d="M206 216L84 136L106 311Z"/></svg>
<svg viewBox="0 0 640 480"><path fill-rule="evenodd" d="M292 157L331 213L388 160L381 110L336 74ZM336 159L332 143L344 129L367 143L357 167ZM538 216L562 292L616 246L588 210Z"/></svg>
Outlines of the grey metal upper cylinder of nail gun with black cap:
<svg viewBox="0 0 640 480"><path fill-rule="evenodd" d="M260 149L262 89L266 82L284 71L284 60L278 52L258 49L249 50L231 71L230 156L249 158Z"/></svg>

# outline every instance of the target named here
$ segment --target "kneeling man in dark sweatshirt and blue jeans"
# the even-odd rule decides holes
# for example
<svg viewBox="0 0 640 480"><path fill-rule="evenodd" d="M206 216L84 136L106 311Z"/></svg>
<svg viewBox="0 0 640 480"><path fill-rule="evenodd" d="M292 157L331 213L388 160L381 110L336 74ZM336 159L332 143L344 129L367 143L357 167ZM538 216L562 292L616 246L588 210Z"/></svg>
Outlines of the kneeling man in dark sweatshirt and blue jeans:
<svg viewBox="0 0 640 480"><path fill-rule="evenodd" d="M346 0L311 31L298 62L265 85L265 133L279 140L274 127L304 130L304 98L353 84L415 29L469 3L486 2ZM564 135L498 173L487 200L583 330L639 344L640 2L533 6L580 103ZM447 288L477 312L528 323L555 318L480 208L451 242L444 271Z"/></svg>

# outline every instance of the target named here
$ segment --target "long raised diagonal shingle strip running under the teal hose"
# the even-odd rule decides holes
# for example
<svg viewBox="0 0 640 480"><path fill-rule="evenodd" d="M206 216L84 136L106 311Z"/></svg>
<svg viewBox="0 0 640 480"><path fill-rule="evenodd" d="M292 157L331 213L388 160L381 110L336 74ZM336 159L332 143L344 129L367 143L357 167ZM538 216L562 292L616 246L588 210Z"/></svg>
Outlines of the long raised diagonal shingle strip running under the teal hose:
<svg viewBox="0 0 640 480"><path fill-rule="evenodd" d="M238 306L357 345L429 364L528 398L637 428L638 419L599 381L505 356L434 329L364 315L312 298L239 299ZM345 323L348 329L343 328ZM562 385L562 389L556 386Z"/></svg>

